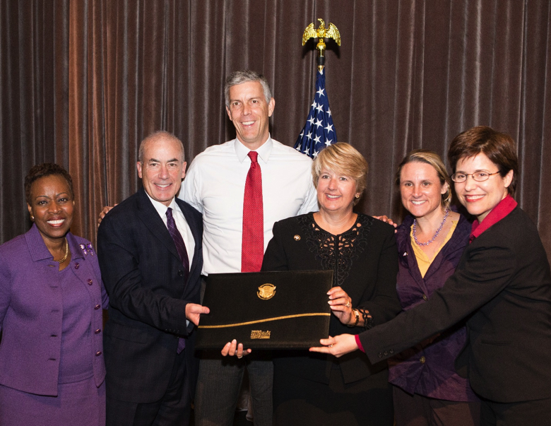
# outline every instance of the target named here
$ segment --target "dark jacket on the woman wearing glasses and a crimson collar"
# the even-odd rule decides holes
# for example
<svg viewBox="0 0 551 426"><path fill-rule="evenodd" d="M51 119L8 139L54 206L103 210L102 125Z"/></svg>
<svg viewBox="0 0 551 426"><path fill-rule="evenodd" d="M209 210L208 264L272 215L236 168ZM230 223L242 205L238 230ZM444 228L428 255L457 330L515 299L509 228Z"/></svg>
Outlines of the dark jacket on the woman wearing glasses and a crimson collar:
<svg viewBox="0 0 551 426"><path fill-rule="evenodd" d="M469 244L429 300L360 335L381 360L468 317L456 369L501 403L551 397L551 274L538 230L515 208Z"/></svg>

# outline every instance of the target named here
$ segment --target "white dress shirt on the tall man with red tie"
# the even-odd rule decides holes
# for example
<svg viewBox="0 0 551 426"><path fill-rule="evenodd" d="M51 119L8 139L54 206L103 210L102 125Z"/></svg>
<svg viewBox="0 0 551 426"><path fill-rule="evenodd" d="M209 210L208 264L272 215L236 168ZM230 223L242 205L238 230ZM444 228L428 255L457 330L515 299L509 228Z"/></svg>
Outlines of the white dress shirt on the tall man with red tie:
<svg viewBox="0 0 551 426"><path fill-rule="evenodd" d="M268 137L256 150L262 172L264 250L275 222L318 211L312 159ZM194 158L179 197L203 213L203 275L241 271L243 199L251 166L237 139Z"/></svg>

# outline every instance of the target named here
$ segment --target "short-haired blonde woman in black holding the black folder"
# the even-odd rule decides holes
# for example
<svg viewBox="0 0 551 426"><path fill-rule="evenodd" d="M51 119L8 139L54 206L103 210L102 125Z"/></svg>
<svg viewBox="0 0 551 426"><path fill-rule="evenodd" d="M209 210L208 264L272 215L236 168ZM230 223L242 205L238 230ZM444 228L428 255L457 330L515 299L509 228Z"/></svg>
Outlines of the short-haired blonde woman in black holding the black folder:
<svg viewBox="0 0 551 426"><path fill-rule="evenodd" d="M263 271L333 270L330 335L392 319L398 256L393 227L355 213L367 162L348 143L321 150L312 166L320 210L275 223ZM307 350L274 356L275 425L392 425L386 362L361 353L337 359Z"/></svg>

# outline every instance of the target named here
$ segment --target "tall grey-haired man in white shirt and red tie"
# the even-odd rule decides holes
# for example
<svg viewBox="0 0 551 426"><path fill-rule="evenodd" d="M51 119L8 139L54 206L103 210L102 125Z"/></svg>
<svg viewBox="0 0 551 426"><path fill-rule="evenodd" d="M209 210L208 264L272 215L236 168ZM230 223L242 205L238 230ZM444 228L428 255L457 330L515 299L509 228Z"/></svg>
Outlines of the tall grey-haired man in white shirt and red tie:
<svg viewBox="0 0 551 426"><path fill-rule="evenodd" d="M197 155L179 194L203 213L203 275L259 271L273 223L318 210L312 160L270 137L268 120L275 100L266 78L254 71L230 74L225 103L237 138ZM262 230L249 238L250 230L246 228L258 215L243 219L247 205L251 208L246 187L256 167L261 170L261 183L256 189L260 200L254 201L253 211L261 215ZM259 256L245 259L254 252L255 245L260 247ZM251 384L254 424L271 425L273 365L256 352L242 359L223 358L220 353L201 357L195 399L197 426L232 424L245 368Z"/></svg>

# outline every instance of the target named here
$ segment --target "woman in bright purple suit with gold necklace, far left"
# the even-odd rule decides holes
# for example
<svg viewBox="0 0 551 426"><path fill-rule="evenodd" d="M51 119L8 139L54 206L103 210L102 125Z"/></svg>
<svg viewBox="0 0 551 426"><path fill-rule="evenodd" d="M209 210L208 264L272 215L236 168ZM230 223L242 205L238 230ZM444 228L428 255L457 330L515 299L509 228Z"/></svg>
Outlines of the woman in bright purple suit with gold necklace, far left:
<svg viewBox="0 0 551 426"><path fill-rule="evenodd" d="M34 225L0 246L0 425L105 425L102 307L92 244L69 232L73 184L63 167L25 177Z"/></svg>

